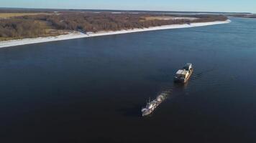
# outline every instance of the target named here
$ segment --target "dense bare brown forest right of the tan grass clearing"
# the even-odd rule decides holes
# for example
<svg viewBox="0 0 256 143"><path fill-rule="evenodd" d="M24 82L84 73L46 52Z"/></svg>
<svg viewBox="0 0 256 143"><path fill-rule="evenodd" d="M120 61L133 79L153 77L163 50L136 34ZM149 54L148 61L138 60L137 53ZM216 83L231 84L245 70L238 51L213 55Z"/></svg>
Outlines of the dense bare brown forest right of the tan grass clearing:
<svg viewBox="0 0 256 143"><path fill-rule="evenodd" d="M120 29L147 28L169 24L187 24L203 21L224 21L226 16L196 15L195 20L170 19L170 20L145 20L145 16L164 16L159 14L112 14L112 13L68 13L48 16L24 16L24 19L39 19L49 21L57 29L83 30L83 31L116 31Z"/></svg>

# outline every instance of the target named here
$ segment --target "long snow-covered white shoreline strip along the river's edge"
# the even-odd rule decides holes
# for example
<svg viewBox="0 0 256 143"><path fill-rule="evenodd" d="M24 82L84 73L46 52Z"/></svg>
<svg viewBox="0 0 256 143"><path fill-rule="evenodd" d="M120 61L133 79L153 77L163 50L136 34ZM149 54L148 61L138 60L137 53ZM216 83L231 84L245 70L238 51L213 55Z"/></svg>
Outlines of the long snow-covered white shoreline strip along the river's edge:
<svg viewBox="0 0 256 143"><path fill-rule="evenodd" d="M227 21L212 21L212 22L201 22L201 23L191 23L191 24L173 24L173 25L165 25L165 26L154 26L154 27L149 27L144 29L101 31L96 33L88 32L87 34L83 34L81 32L72 32L70 34L65 34L60 36L48 36L48 37L38 37L38 38L32 38L32 39L16 39L16 40L9 40L9 41L0 41L0 48L10 47L10 46L22 46L27 44L45 43L50 41L80 39L80 38L87 38L87 37L93 37L93 36L128 34L128 33L134 33L134 32L156 31L156 30L165 30L165 29L183 29L183 28L191 28L191 27L197 27L197 26L211 26L216 24L227 24L229 22L231 21L227 20Z"/></svg>

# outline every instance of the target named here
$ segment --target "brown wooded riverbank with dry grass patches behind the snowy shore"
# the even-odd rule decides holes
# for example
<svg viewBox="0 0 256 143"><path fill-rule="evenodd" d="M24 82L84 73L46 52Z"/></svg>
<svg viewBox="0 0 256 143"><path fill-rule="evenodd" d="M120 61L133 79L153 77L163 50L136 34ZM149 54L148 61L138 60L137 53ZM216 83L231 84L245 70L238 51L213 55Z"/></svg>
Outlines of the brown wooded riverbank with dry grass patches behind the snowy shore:
<svg viewBox="0 0 256 143"><path fill-rule="evenodd" d="M163 19L168 17L168 19ZM187 19L173 19L164 14L112 14L112 13L62 13L29 14L10 19L0 19L0 40L63 34L63 31L116 31L121 29L147 28L191 22L224 21L226 16L195 15ZM177 15L176 15L177 17ZM193 19L189 19L189 17ZM60 31L60 32L59 32Z"/></svg>

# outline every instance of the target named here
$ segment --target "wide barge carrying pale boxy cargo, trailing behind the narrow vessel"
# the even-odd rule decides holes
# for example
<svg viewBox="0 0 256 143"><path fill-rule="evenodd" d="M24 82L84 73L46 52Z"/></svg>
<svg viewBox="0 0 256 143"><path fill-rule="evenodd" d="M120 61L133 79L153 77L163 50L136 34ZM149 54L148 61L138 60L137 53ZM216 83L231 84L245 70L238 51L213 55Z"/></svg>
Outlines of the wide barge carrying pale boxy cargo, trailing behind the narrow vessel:
<svg viewBox="0 0 256 143"><path fill-rule="evenodd" d="M179 69L174 77L174 82L179 82L186 84L188 82L188 79L191 77L193 73L193 66L191 63L185 64L183 69Z"/></svg>

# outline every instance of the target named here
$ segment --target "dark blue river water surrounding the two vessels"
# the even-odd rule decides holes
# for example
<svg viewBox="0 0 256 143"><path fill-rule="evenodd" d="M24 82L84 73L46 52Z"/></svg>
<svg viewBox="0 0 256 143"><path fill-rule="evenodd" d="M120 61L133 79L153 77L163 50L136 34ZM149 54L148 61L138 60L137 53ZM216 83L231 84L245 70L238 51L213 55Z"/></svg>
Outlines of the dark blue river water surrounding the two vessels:
<svg viewBox="0 0 256 143"><path fill-rule="evenodd" d="M0 49L0 142L256 142L255 65L254 19Z"/></svg>

